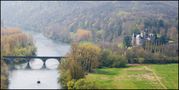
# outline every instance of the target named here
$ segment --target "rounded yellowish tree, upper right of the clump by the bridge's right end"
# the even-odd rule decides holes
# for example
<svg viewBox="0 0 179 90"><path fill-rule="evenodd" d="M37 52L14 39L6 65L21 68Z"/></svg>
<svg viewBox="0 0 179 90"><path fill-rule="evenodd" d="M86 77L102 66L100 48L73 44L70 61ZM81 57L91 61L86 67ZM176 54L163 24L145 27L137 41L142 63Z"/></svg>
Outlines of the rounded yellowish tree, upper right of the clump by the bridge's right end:
<svg viewBox="0 0 179 90"><path fill-rule="evenodd" d="M82 43L78 47L78 60L81 62L82 68L85 71L91 72L99 65L101 49L91 43Z"/></svg>

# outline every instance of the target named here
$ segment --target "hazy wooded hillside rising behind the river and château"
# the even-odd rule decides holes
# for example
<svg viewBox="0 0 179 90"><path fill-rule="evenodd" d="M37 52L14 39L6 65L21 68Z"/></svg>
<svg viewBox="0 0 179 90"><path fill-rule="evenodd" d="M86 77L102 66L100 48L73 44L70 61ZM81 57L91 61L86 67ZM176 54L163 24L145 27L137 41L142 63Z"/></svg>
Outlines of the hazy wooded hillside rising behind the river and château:
<svg viewBox="0 0 179 90"><path fill-rule="evenodd" d="M117 46L126 36L143 30L177 40L172 34L178 32L175 1L4 1L1 7L3 27L41 32L55 41ZM90 31L91 37L79 36L78 29Z"/></svg>

